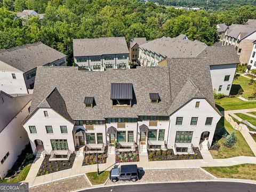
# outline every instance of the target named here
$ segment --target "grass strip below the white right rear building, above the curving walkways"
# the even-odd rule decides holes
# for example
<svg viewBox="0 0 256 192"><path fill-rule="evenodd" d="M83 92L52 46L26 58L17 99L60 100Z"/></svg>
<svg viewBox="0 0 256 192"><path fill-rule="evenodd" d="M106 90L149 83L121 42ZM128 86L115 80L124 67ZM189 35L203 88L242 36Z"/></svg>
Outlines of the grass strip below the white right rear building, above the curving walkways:
<svg viewBox="0 0 256 192"><path fill-rule="evenodd" d="M215 99L216 107L220 110L236 110L236 109L250 109L255 108L255 102L246 102L238 98L222 98Z"/></svg>

